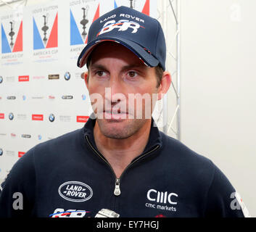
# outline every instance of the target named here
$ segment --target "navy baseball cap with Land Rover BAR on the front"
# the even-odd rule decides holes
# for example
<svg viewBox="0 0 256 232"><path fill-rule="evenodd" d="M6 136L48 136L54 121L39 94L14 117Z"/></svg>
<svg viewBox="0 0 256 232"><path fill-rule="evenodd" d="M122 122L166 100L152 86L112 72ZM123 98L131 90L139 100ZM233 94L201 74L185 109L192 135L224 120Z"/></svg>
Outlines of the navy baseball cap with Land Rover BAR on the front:
<svg viewBox="0 0 256 232"><path fill-rule="evenodd" d="M104 41L127 47L145 65L165 70L166 45L160 22L129 7L117 7L95 20L88 32L88 43L78 57L78 67L88 62L93 49Z"/></svg>

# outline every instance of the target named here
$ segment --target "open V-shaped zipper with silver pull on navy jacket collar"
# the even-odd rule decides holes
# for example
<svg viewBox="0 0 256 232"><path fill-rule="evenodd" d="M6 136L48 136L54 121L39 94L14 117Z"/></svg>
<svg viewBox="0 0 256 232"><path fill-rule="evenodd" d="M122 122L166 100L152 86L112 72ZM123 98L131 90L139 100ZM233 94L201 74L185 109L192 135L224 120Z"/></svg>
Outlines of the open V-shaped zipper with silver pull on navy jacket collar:
<svg viewBox="0 0 256 232"><path fill-rule="evenodd" d="M131 165L133 165L135 162L139 161L139 159L142 159L143 157L145 157L146 155L156 151L157 149L159 149L159 145L157 146L154 146L153 149L151 149L149 152L146 152L145 154L141 155L140 157L138 157L137 159L134 159L133 162L131 162L130 165L128 165L127 167L125 167L125 170L123 170L123 173L120 175L120 178L117 178L117 176L115 175L115 171L113 170L113 168L111 167L110 163L107 162L107 159L104 159L103 158L103 155L100 154L95 148L94 146L92 146L91 142L89 141L88 139L88 136L86 136L86 141L87 143L89 144L89 146L91 147L91 149L93 149L93 151L110 167L110 169L112 170L112 173L114 174L115 176L115 189L114 189L114 195L115 196L119 196L121 194L121 190L120 190L120 179L123 175L123 173L125 173L125 171L131 167Z"/></svg>

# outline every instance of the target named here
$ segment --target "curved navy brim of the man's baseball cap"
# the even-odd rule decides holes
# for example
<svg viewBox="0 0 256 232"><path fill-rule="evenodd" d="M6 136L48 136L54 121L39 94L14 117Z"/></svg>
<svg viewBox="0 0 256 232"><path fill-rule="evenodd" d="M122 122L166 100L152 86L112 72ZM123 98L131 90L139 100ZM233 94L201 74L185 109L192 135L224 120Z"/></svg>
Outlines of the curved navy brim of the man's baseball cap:
<svg viewBox="0 0 256 232"><path fill-rule="evenodd" d="M129 41L125 38L120 39L111 37L111 38L99 38L94 41L91 41L87 44L87 46L83 49L83 51L80 53L80 56L78 57L78 67L83 67L87 63L88 57L91 54L91 52L94 50L94 48L104 41L113 41L115 43L120 43L126 48L133 51L134 54L136 54L137 57L139 57L145 65L149 67L156 67L159 64L159 61L150 54L150 51L146 51L146 49L142 48L138 43L134 43L133 41Z"/></svg>

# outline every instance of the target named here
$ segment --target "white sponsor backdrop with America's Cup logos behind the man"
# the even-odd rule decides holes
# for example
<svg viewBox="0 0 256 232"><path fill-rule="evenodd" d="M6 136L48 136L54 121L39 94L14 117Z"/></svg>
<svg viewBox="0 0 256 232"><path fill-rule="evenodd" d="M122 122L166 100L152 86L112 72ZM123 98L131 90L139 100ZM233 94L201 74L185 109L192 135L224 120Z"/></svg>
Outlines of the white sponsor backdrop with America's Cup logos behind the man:
<svg viewBox="0 0 256 232"><path fill-rule="evenodd" d="M88 33L94 19L121 5L130 1L47 1L0 12L0 179L19 154L83 127L91 105L80 77L86 68L76 66L87 37L80 21L88 20ZM156 17L157 1L135 8L147 6Z"/></svg>

